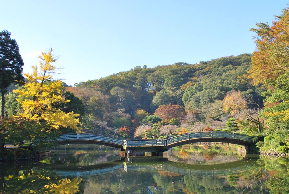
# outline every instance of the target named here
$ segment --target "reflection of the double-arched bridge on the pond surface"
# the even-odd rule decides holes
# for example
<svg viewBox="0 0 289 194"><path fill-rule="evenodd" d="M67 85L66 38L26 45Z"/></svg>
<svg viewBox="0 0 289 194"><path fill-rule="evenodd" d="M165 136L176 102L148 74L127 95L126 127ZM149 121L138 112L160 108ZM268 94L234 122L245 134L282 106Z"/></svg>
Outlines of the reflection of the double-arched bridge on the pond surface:
<svg viewBox="0 0 289 194"><path fill-rule="evenodd" d="M167 159L167 158L164 158ZM114 173L117 171L137 172L137 171L169 171L180 175L193 175L193 176L225 176L234 175L244 171L251 171L255 165L247 165L248 160L239 160L236 162L224 163L221 165L185 165L181 163L171 162L170 164L133 164L123 162L123 164L113 165L107 168L98 168L93 170L86 170L85 167L82 171L57 171L57 176L60 177L90 177L95 175L104 175ZM252 164L252 163L251 163ZM227 168L224 168L227 167ZM92 167L89 167L92 168Z"/></svg>

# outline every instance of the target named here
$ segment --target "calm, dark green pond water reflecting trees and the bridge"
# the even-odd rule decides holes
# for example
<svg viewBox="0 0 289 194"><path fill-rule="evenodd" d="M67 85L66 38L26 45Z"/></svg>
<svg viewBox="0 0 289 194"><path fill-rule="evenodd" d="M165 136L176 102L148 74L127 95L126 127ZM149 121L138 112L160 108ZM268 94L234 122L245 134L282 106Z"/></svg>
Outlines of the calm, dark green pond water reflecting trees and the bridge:
<svg viewBox="0 0 289 194"><path fill-rule="evenodd" d="M228 144L183 145L162 157L129 157L66 145L40 162L0 165L0 193L289 193L288 158L239 155Z"/></svg>

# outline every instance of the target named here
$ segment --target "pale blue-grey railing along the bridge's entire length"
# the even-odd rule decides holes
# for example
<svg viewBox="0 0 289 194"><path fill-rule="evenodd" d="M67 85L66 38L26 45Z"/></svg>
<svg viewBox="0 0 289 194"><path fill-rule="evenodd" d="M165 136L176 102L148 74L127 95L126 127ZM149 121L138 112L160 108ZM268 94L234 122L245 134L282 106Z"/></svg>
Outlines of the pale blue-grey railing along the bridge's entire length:
<svg viewBox="0 0 289 194"><path fill-rule="evenodd" d="M172 136L166 139L120 139L113 136L105 136L92 133L68 133L59 137L58 141L68 140L90 140L112 143L114 145L125 147L152 147L152 146L169 146L179 142L190 141L194 139L232 139L252 143L252 136L247 136L240 133L223 132L223 131L207 131L207 132L191 132L177 136Z"/></svg>

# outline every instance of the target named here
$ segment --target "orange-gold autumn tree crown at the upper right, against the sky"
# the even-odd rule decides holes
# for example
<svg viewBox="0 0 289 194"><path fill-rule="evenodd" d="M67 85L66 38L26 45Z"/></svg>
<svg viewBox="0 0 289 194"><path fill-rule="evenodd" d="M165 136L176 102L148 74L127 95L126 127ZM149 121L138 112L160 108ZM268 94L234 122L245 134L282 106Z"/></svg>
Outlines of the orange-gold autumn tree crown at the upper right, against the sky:
<svg viewBox="0 0 289 194"><path fill-rule="evenodd" d="M268 23L257 23L254 36L256 51L252 54L250 78L254 84L272 86L276 79L289 71L289 8L285 8L280 16L275 16L272 26Z"/></svg>

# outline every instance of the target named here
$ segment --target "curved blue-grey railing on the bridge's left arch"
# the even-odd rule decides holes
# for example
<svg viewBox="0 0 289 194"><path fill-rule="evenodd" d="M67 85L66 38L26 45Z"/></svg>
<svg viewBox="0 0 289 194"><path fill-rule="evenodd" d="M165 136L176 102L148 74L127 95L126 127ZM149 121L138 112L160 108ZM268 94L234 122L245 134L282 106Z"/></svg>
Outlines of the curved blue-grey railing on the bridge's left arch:
<svg viewBox="0 0 289 194"><path fill-rule="evenodd" d="M114 143L117 145L123 145L123 139L119 139L113 136L98 135L92 133L67 133L59 137L58 141L67 141L67 140L95 140L102 141L107 143Z"/></svg>

